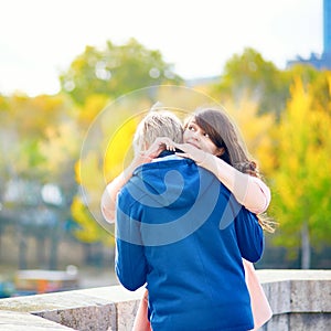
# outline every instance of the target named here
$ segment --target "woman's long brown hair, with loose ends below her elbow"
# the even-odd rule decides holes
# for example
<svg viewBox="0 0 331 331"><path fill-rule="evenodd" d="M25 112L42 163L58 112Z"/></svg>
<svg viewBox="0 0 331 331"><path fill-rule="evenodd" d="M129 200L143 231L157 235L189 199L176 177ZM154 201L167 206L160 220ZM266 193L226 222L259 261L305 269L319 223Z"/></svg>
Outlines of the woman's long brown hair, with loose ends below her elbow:
<svg viewBox="0 0 331 331"><path fill-rule="evenodd" d="M223 109L199 108L193 115L196 125L204 130L217 148L224 152L220 159L231 164L238 171L260 178L257 163L252 160L244 140L226 113ZM275 232L275 223L263 214L258 215L258 222L267 232Z"/></svg>

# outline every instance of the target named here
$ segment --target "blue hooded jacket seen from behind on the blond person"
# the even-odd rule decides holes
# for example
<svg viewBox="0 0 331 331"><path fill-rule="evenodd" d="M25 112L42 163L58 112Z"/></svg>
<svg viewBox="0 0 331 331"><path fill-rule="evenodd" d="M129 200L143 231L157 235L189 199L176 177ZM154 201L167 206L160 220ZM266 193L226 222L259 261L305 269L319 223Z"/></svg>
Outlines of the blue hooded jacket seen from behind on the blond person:
<svg viewBox="0 0 331 331"><path fill-rule="evenodd" d="M209 171L174 156L139 167L118 195L116 273L147 284L152 330L253 329L242 257L263 229Z"/></svg>

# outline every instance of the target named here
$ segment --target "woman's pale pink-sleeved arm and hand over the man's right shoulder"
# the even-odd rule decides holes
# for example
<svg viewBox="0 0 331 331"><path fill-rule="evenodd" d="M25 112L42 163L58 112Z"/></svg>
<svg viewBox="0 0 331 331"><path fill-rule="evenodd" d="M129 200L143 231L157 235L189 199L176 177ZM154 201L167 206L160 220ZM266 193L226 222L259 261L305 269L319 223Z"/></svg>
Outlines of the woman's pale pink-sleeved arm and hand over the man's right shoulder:
<svg viewBox="0 0 331 331"><path fill-rule="evenodd" d="M259 178L243 173L222 159L190 143L174 143L174 146L183 151L177 153L178 156L190 158L197 166L214 173L248 211L260 214L267 210L270 203L270 190Z"/></svg>

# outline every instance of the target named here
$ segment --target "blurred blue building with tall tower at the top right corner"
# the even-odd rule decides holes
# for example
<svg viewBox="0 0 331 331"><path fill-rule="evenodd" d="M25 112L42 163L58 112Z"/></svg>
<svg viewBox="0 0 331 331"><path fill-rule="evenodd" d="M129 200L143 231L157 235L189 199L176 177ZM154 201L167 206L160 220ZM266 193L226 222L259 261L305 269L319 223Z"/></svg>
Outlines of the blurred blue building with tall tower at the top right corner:
<svg viewBox="0 0 331 331"><path fill-rule="evenodd" d="M323 0L323 53L318 55L311 53L310 58L297 56L296 60L287 62L288 66L293 64L311 64L317 70L331 70L331 0Z"/></svg>

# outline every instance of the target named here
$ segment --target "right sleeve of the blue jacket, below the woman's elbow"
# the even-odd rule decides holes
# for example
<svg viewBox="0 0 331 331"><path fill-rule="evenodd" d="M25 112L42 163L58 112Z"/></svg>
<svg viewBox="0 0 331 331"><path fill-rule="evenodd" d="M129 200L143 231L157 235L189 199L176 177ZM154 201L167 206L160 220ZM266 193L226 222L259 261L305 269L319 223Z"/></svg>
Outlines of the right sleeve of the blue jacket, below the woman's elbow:
<svg viewBox="0 0 331 331"><path fill-rule="evenodd" d="M242 257L256 263L264 252L264 232L255 214L242 207L235 220Z"/></svg>

